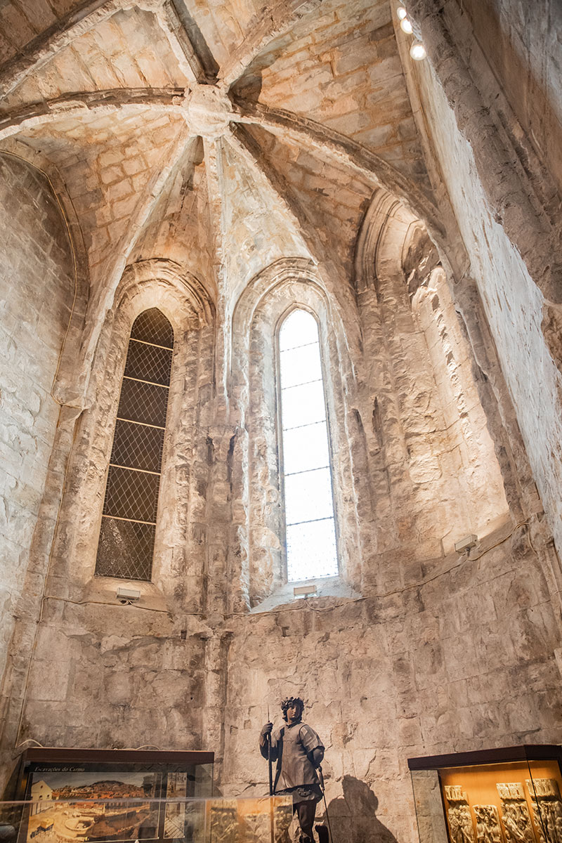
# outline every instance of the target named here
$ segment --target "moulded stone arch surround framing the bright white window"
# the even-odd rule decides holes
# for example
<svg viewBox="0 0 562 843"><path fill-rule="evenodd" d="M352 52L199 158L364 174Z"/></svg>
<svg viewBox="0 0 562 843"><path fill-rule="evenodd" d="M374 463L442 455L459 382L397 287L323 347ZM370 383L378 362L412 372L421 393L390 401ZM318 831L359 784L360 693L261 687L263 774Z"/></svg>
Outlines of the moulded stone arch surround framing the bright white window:
<svg viewBox="0 0 562 843"><path fill-rule="evenodd" d="M356 588L361 583L361 539L348 430L348 401L356 376L344 321L312 261L279 260L254 277L233 314L232 391L246 432L236 479L247 513L239 577L249 606L286 583L276 337L283 319L294 309L313 314L318 322L329 436L332 452L337 454L333 482L340 579Z"/></svg>

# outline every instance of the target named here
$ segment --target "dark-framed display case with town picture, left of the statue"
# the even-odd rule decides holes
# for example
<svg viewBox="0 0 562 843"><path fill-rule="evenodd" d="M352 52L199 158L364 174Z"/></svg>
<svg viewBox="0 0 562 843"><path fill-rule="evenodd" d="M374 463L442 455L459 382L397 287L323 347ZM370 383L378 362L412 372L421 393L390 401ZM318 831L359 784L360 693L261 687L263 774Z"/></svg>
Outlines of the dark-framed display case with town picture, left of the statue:
<svg viewBox="0 0 562 843"><path fill-rule="evenodd" d="M18 843L199 840L212 752L29 749Z"/></svg>

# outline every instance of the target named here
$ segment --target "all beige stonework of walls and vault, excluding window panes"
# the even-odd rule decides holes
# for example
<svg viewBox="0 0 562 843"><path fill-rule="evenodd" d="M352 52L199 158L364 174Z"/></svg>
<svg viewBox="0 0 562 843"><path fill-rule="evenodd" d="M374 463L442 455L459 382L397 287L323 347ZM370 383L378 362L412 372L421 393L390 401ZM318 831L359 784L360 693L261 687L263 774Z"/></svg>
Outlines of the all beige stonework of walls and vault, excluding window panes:
<svg viewBox="0 0 562 843"><path fill-rule="evenodd" d="M156 744L260 794L267 708L302 695L335 840L409 843L409 757L560 742L556 3L406 6L419 64L388 0L3 3L3 782L33 742ZM96 577L155 307L153 578ZM307 600L279 427L296 307L339 558Z"/></svg>

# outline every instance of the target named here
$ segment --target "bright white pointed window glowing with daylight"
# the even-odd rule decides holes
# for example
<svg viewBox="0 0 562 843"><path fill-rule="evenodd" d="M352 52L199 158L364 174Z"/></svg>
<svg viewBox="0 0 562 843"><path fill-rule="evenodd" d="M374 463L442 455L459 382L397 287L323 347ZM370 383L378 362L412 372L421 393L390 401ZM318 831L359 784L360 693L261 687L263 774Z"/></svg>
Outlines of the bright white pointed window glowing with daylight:
<svg viewBox="0 0 562 843"><path fill-rule="evenodd" d="M281 429L289 582L335 577L332 472L316 319L293 310L279 331Z"/></svg>

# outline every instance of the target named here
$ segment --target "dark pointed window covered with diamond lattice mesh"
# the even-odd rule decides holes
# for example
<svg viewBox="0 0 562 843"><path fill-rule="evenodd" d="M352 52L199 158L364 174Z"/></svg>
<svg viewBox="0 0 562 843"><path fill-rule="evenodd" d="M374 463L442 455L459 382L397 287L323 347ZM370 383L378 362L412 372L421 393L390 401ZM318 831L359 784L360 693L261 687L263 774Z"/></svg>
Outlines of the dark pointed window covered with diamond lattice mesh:
<svg viewBox="0 0 562 843"><path fill-rule="evenodd" d="M137 316L121 382L95 573L150 580L174 330L157 309Z"/></svg>

